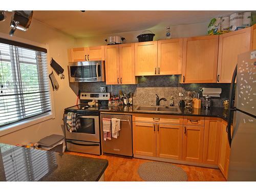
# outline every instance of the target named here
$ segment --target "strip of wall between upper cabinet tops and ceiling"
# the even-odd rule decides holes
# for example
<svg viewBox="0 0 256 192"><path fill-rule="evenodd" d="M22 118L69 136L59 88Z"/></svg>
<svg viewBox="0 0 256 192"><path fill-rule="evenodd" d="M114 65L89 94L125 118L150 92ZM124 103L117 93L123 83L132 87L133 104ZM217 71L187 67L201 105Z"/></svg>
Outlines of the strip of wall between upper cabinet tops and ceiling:
<svg viewBox="0 0 256 192"><path fill-rule="evenodd" d="M170 32L172 34L172 38L193 37L193 36L207 35L207 29L208 29L208 23L200 23L200 24L173 26L173 27L170 27ZM153 33L156 34L154 37L154 40L165 39L166 28L149 29L149 30L151 30ZM143 31L144 30L106 34L106 35L85 37L85 38L76 38L76 46L89 47L89 46L106 45L106 42L104 41L104 39L106 39L106 37L108 36L125 37L126 41L124 41L124 43L138 42L137 36L139 34L142 34ZM144 32L144 33L150 33L150 32Z"/></svg>

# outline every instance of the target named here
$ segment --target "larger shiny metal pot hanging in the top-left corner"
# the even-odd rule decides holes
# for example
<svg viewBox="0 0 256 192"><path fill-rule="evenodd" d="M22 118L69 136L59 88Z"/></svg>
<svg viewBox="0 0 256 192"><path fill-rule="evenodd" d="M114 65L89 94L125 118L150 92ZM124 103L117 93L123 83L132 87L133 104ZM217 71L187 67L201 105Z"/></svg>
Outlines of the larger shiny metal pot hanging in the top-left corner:
<svg viewBox="0 0 256 192"><path fill-rule="evenodd" d="M11 18L10 36L13 36L16 29L27 31L33 16L33 11L14 11Z"/></svg>

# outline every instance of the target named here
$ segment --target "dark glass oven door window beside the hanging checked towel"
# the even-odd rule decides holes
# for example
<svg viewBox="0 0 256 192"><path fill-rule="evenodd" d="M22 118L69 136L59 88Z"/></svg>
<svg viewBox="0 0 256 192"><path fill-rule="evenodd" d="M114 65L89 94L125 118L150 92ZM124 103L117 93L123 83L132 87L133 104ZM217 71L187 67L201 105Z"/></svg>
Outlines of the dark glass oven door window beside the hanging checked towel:
<svg viewBox="0 0 256 192"><path fill-rule="evenodd" d="M95 134L95 119L80 118L81 127L76 130L76 133Z"/></svg>

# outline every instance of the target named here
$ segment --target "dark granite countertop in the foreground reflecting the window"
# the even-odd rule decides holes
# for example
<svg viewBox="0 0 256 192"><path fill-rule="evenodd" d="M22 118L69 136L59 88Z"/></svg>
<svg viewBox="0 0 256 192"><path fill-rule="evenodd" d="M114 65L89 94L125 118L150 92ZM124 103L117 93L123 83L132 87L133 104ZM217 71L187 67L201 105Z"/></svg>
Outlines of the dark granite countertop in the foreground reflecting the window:
<svg viewBox="0 0 256 192"><path fill-rule="evenodd" d="M0 181L98 181L108 160L0 143Z"/></svg>

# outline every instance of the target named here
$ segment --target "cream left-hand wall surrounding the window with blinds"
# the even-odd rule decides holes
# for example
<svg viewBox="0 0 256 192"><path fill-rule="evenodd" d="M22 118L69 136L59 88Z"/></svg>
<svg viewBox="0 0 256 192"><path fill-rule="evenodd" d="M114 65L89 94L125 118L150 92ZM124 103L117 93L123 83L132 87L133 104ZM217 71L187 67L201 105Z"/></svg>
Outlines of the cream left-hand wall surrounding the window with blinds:
<svg viewBox="0 0 256 192"><path fill-rule="evenodd" d="M11 15L8 14L7 19L0 23L0 32L6 34L9 33L10 17ZM35 41L40 44L48 44L50 58L53 57L62 66L62 68L65 69L64 74L66 78L60 79L60 77L55 73L55 77L59 83L58 91L53 92L55 119L50 119L26 127L23 130L1 136L0 142L10 144L37 142L41 138L51 134L63 134L61 129L61 124L63 124L63 110L68 106L75 105L76 94L74 92L78 90L78 84L71 85L74 91L69 86L67 67L67 49L75 47L75 39L34 19L32 20L31 26L27 32L17 30L14 33L14 36ZM48 68L52 70L50 63L48 63L48 65Z"/></svg>

